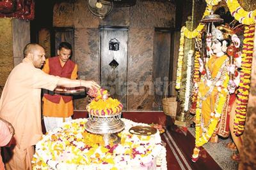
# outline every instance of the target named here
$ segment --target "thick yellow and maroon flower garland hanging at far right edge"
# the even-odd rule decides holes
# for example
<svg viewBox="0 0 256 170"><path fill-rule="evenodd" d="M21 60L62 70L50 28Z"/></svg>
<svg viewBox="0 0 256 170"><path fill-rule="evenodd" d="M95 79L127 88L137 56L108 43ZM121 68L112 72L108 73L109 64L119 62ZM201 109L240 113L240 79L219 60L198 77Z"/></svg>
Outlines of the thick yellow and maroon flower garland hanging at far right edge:
<svg viewBox="0 0 256 170"><path fill-rule="evenodd" d="M253 39L255 33L256 9L246 11L237 0L226 0L231 15L238 22L248 25L244 28L244 41L242 50L242 63L240 83L237 94L236 117L234 119L234 133L236 136L243 134L246 120L246 108L250 90L250 77L252 71Z"/></svg>

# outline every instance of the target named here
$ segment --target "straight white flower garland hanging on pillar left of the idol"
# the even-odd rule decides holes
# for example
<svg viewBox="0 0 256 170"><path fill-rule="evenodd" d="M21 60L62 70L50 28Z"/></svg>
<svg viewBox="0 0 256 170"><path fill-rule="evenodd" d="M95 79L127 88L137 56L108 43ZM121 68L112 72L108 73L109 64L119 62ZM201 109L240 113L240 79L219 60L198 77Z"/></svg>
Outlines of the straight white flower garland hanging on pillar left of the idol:
<svg viewBox="0 0 256 170"><path fill-rule="evenodd" d="M187 63L187 77L186 77L186 92L185 92L185 102L184 111L188 111L189 99L191 94L191 65L192 65L193 50L188 52L188 63Z"/></svg>

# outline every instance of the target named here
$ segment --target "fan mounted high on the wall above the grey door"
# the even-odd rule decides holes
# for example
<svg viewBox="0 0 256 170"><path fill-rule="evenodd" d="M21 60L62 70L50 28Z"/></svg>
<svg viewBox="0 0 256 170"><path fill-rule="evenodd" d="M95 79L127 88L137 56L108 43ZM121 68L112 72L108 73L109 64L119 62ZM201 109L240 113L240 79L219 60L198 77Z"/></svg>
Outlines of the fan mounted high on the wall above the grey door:
<svg viewBox="0 0 256 170"><path fill-rule="evenodd" d="M104 18L113 10L113 2L104 0L88 0L88 8L93 15Z"/></svg>

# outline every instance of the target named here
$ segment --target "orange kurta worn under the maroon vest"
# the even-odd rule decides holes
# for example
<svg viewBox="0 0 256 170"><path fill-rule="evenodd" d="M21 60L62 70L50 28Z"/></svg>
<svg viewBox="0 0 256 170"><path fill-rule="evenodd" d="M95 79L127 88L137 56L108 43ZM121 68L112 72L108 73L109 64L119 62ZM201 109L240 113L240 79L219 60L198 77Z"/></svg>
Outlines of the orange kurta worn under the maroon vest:
<svg viewBox="0 0 256 170"><path fill-rule="evenodd" d="M45 73L50 73L49 59L45 60L45 65L42 69ZM77 64L71 74L71 79L77 78ZM43 97L43 115L45 117L70 117L73 115L74 108L73 102L69 101L65 103L61 97L60 103L52 103L51 101Z"/></svg>

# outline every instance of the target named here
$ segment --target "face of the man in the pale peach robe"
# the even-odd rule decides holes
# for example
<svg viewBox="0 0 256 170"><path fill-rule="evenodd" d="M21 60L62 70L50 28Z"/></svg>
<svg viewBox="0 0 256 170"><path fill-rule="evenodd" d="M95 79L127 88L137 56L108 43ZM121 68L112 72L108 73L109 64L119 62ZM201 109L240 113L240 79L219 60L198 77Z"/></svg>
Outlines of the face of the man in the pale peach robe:
<svg viewBox="0 0 256 170"><path fill-rule="evenodd" d="M37 46L36 50L33 52L33 65L37 68L40 68L44 65L45 62L45 51L41 46Z"/></svg>

